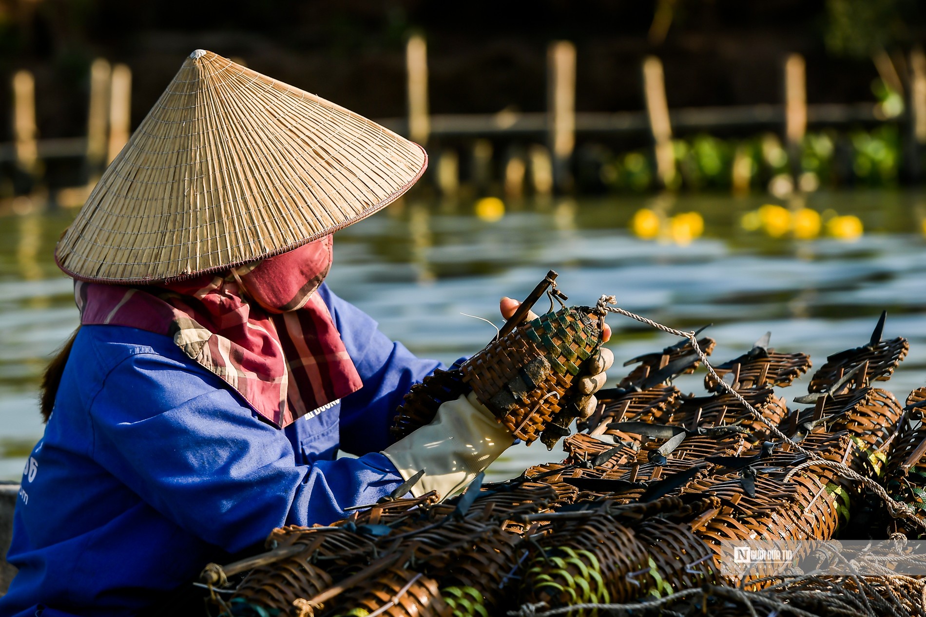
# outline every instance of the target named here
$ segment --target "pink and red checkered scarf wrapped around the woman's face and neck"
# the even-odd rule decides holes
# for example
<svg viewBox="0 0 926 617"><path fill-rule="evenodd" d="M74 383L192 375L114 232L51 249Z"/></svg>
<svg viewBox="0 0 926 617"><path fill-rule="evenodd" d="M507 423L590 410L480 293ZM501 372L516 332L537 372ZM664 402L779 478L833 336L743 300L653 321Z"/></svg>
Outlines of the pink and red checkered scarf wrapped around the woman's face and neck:
<svg viewBox="0 0 926 617"><path fill-rule="evenodd" d="M315 291L332 237L218 275L147 287L76 281L81 325L169 336L275 426L319 413L363 385Z"/></svg>

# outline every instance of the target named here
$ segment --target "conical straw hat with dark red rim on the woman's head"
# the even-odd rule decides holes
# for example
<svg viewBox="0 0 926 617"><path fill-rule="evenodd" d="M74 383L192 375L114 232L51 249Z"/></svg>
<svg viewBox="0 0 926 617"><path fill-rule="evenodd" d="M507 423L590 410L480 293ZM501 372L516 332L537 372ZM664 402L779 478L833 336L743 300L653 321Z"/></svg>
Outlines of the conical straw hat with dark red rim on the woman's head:
<svg viewBox="0 0 926 617"><path fill-rule="evenodd" d="M56 247L74 278L185 278L290 251L393 202L416 143L196 50Z"/></svg>

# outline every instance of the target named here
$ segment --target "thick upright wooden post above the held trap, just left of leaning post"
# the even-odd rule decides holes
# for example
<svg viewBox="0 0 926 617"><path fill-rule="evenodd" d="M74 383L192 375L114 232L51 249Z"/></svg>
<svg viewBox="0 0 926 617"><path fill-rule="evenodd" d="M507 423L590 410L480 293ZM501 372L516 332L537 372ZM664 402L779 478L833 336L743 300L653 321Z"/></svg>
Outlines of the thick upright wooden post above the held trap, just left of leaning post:
<svg viewBox="0 0 926 617"><path fill-rule="evenodd" d="M547 113L553 181L557 190L571 188L569 162L575 148L576 48L569 41L551 43L547 51Z"/></svg>

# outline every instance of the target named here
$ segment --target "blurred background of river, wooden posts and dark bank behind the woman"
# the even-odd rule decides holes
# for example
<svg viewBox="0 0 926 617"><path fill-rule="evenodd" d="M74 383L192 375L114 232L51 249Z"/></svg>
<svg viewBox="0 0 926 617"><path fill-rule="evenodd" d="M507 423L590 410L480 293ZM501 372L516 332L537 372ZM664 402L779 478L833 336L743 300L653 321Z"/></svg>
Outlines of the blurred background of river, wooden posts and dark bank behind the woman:
<svg viewBox="0 0 926 617"><path fill-rule="evenodd" d="M329 278L414 352L477 351L494 329L462 314L497 324L554 268L570 302L713 323L719 362L771 330L819 366L887 309L903 399L926 384L924 42L915 0L0 0L0 478L77 325L55 241L196 48L426 146ZM611 324L619 362L675 342Z"/></svg>

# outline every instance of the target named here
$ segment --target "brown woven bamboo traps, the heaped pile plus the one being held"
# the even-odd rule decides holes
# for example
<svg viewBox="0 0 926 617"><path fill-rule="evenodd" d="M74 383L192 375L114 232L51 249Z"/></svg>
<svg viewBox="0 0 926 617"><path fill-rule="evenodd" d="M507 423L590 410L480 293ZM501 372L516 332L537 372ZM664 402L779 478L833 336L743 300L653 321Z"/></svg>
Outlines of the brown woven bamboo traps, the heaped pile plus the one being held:
<svg viewBox="0 0 926 617"><path fill-rule="evenodd" d="M594 333L589 315L565 308L546 315L530 325L540 343L527 328L499 340L530 341L547 353L532 359L548 358L544 336L557 337L551 342L561 350L560 328L572 328L573 345L590 353L594 341L574 334ZM926 388L904 407L872 385L907 353L905 339L882 341L882 327L883 315L868 344L830 356L792 402L779 389L806 373L810 359L771 350L768 335L708 374L706 395L672 385L703 364L690 341L634 358L630 375L599 392L599 408L563 441L563 460L505 482L477 478L452 500L394 495L330 526L278 529L268 552L206 568L209 610L223 617L926 616L920 578L736 576L723 568L729 541L773 540L800 551L805 540L926 534ZM709 353L714 341L699 339L698 347ZM486 357L499 355L487 349L494 351ZM467 387L485 400L504 392L512 399L513 376L523 381L525 371L509 364L473 362L461 371L466 379L438 374L425 388L431 399L409 401L425 410ZM550 384L564 376L546 375ZM544 413L554 422L556 409ZM427 419L412 415L407 402L399 434ZM515 412L499 418L524 436L545 430L521 426L525 418ZM884 490L907 504L906 515L891 515L901 506L883 505Z"/></svg>

